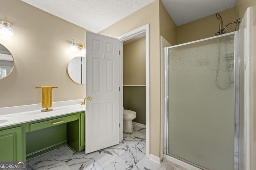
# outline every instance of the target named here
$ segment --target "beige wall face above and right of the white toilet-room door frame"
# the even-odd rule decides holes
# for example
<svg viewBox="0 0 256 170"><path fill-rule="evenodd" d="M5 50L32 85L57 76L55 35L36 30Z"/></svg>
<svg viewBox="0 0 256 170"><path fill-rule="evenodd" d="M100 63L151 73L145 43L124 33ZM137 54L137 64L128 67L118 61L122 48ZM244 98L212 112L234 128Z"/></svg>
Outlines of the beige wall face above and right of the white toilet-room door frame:
<svg viewBox="0 0 256 170"><path fill-rule="evenodd" d="M100 34L118 37L147 23L150 24L150 154L160 156L159 0L114 23Z"/></svg>

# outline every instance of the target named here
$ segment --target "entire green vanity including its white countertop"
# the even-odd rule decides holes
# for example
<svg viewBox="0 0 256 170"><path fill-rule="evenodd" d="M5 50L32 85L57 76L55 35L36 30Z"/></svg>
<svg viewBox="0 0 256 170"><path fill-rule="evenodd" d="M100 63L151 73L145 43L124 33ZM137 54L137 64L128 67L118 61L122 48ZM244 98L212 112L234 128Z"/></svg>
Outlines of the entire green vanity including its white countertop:
<svg viewBox="0 0 256 170"><path fill-rule="evenodd" d="M52 108L50 112L37 109L12 114L7 107L0 108L0 162L26 161L63 145L75 153L84 150L85 106Z"/></svg>

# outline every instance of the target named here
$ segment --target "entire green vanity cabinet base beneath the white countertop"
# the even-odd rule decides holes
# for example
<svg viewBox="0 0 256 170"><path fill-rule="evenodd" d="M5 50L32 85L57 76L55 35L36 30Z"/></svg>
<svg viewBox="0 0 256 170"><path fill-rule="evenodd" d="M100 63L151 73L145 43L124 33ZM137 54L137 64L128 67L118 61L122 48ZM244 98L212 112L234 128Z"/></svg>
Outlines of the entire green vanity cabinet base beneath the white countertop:
<svg viewBox="0 0 256 170"><path fill-rule="evenodd" d="M84 150L85 111L0 128L0 162L24 162L63 145Z"/></svg>

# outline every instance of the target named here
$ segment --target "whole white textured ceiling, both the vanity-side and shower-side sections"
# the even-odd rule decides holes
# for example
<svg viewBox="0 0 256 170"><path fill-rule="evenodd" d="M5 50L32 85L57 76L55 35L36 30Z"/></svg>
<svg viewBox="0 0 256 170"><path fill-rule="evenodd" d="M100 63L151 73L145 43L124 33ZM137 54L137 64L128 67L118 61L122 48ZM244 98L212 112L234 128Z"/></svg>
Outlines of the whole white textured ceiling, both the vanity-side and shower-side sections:
<svg viewBox="0 0 256 170"><path fill-rule="evenodd" d="M98 33L154 0L22 0ZM177 26L233 8L236 0L161 0Z"/></svg>

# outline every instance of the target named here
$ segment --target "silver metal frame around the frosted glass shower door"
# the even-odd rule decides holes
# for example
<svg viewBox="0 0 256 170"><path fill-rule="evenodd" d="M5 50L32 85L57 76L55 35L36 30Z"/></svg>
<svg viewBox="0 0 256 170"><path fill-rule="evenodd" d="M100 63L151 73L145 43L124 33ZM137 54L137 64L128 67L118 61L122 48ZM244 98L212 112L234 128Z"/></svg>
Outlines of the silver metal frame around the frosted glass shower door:
<svg viewBox="0 0 256 170"><path fill-rule="evenodd" d="M169 154L168 153L168 142L169 142L169 137L168 137L168 130L169 130L169 125L168 125L168 102L169 102L169 90L168 90L168 77L169 77L169 49L170 48L174 48L174 47L179 47L179 46L183 46L183 45L188 45L188 44L192 44L192 43L197 43L197 42L201 42L201 41L206 41L209 39L214 39L214 38L218 38L218 37L222 37L222 36L226 36L226 35L231 35L234 34L234 102L235 102L235 108L234 108L234 170L239 170L240 167L240 142L239 142L239 106L240 104L243 104L242 102L240 102L240 86L239 86L239 75L240 74L244 74L244 70L240 70L240 55L239 55L239 31L234 31L232 33L226 33L223 35L218 35L215 37L209 37L206 39L200 39L197 41L191 41L188 43L183 43L183 44L179 44L179 45L174 45L171 47L165 47L165 59L164 59L164 63L165 63L165 75L164 75L164 89L165 89L165 95L164 96L164 115L163 115L163 119L164 119L164 154L172 156L178 160L181 160L183 162L186 162L190 165L196 166L198 168L201 168L203 170L208 170L204 167L198 166L196 164L193 164L192 162L189 162L187 160L184 160L182 158L179 158L175 155Z"/></svg>

